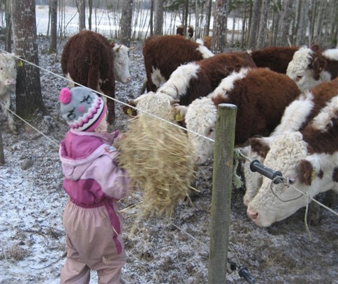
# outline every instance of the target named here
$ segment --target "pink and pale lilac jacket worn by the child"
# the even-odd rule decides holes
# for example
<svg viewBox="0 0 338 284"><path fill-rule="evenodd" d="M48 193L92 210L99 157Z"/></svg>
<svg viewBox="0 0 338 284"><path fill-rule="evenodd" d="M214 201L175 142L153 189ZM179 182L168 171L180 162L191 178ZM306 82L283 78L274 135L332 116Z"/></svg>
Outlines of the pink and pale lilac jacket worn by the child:
<svg viewBox="0 0 338 284"><path fill-rule="evenodd" d="M117 165L115 137L115 133L68 130L59 157L71 202L82 208L105 207L115 233L120 234L122 216L116 202L126 197L130 179Z"/></svg>

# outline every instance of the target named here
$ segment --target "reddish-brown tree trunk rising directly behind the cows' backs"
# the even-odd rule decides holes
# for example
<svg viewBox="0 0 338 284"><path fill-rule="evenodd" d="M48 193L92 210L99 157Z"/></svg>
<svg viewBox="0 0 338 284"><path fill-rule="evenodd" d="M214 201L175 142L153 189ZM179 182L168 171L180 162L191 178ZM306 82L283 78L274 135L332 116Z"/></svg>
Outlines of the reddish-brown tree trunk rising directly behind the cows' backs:
<svg viewBox="0 0 338 284"><path fill-rule="evenodd" d="M214 14L214 33L212 35L212 51L223 52L226 48L228 20L228 0L216 0Z"/></svg>

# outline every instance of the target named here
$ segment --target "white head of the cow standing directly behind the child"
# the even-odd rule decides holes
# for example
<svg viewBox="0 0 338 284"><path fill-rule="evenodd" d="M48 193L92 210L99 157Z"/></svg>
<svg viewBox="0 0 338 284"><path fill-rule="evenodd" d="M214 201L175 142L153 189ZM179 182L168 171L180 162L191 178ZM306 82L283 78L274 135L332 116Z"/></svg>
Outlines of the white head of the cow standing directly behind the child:
<svg viewBox="0 0 338 284"><path fill-rule="evenodd" d="M114 45L112 47L115 80L122 83L131 82L131 73L129 72L130 59L128 52L133 49L134 47L126 47L125 45Z"/></svg>

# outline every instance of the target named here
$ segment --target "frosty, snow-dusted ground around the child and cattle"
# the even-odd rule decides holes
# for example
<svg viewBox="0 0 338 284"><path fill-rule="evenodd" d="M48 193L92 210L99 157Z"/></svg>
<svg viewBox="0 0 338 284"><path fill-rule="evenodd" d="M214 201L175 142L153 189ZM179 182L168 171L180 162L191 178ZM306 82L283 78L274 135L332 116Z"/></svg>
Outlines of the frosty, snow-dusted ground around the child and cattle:
<svg viewBox="0 0 338 284"><path fill-rule="evenodd" d="M3 43L0 43L1 47ZM48 40L38 39L41 50ZM61 75L59 54L42 54L40 66ZM131 52L133 82L117 83L116 96L126 102L138 96L145 76L142 43ZM58 144L67 126L59 116L57 98L66 81L41 70L43 99L50 115L32 124L41 133L16 119L19 135L11 135L3 113L0 126L6 163L0 165L1 248L0 283L59 283L65 260L61 218L67 197L62 189ZM127 120L116 104L115 128ZM47 139L48 138L48 139ZM27 168L26 170L24 170ZM172 219L147 218L136 226L138 209L124 211L127 264L122 280L130 284L207 283L212 161L199 167L196 186L200 193L191 204L178 204ZM321 210L321 221L305 229L304 209L271 227L251 223L242 203L244 190L233 190L228 257L246 266L257 283L338 283L338 218ZM122 201L127 208L141 193ZM338 211L338 207L334 208ZM96 283L93 273L91 283ZM237 271L227 283L246 283Z"/></svg>

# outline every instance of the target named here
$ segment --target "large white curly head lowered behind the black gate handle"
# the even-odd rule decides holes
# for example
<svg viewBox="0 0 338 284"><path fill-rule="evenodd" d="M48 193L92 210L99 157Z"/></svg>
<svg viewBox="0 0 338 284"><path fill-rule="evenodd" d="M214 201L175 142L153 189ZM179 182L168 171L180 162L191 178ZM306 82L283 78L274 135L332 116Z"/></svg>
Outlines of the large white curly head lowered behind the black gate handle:
<svg viewBox="0 0 338 284"><path fill-rule="evenodd" d="M310 155L302 134L294 132L272 140L264 164L273 170L280 170L288 184L314 197L334 186L333 169L325 169L323 165L332 158L337 160L338 153L333 156ZM302 193L284 182L272 184L271 179L263 177L258 193L248 204L247 215L256 225L268 227L306 206L307 196Z"/></svg>

